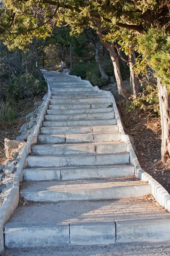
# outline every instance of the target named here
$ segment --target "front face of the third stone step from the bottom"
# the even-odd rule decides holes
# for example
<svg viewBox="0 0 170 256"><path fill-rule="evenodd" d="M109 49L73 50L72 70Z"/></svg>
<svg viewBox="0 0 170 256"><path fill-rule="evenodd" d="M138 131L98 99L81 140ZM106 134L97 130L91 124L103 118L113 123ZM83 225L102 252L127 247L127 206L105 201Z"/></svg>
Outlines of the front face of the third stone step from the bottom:
<svg viewBox="0 0 170 256"><path fill-rule="evenodd" d="M48 167L23 170L23 178L28 182L40 180L118 178L131 175L134 175L134 166L132 165Z"/></svg>

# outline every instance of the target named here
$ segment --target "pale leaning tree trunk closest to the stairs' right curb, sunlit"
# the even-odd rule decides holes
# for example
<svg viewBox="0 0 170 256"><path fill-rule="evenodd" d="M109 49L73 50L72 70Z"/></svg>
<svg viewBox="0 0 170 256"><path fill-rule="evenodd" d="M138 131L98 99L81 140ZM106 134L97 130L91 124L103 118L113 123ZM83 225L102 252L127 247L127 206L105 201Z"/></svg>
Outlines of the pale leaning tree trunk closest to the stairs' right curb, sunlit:
<svg viewBox="0 0 170 256"><path fill-rule="evenodd" d="M126 102L129 103L130 102L129 98L131 95L130 93L127 92L127 90L123 86L122 76L121 76L120 67L119 67L119 59L114 50L114 47L112 47L110 43L108 43L103 39L102 32L100 29L97 30L97 34L99 36L101 43L106 47L106 49L108 49L108 52L111 56L119 95L122 95L125 98Z"/></svg>

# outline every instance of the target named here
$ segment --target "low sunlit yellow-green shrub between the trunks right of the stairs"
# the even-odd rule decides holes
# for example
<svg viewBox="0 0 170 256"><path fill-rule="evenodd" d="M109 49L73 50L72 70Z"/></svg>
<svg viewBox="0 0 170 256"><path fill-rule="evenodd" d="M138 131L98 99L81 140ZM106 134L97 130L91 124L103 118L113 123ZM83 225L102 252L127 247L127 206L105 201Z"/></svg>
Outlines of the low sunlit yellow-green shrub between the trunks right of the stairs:
<svg viewBox="0 0 170 256"><path fill-rule="evenodd" d="M159 116L159 94L156 84L148 84L142 93L139 93L139 97L133 99L132 104L128 107L129 111L135 108L140 108L144 112L149 112L152 115Z"/></svg>

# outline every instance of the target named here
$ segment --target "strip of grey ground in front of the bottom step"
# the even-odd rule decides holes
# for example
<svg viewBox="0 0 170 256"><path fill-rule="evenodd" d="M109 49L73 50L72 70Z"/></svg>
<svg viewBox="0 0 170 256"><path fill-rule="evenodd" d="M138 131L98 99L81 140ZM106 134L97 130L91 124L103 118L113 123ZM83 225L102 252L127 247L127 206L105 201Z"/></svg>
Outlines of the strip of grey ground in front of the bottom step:
<svg viewBox="0 0 170 256"><path fill-rule="evenodd" d="M170 242L5 250L1 256L169 256Z"/></svg>

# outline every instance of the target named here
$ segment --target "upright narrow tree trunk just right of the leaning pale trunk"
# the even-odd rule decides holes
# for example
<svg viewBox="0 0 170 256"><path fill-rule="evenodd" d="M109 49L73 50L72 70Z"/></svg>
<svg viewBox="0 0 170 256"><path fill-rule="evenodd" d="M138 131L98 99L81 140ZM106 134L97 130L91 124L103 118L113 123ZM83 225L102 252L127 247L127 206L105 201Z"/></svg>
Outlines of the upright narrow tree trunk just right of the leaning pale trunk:
<svg viewBox="0 0 170 256"><path fill-rule="evenodd" d="M130 85L133 91L133 99L136 99L139 95L140 85L139 85L139 78L135 76L133 72L133 65L135 64L135 52L133 50L132 54L128 56L129 59L129 67L130 67Z"/></svg>

